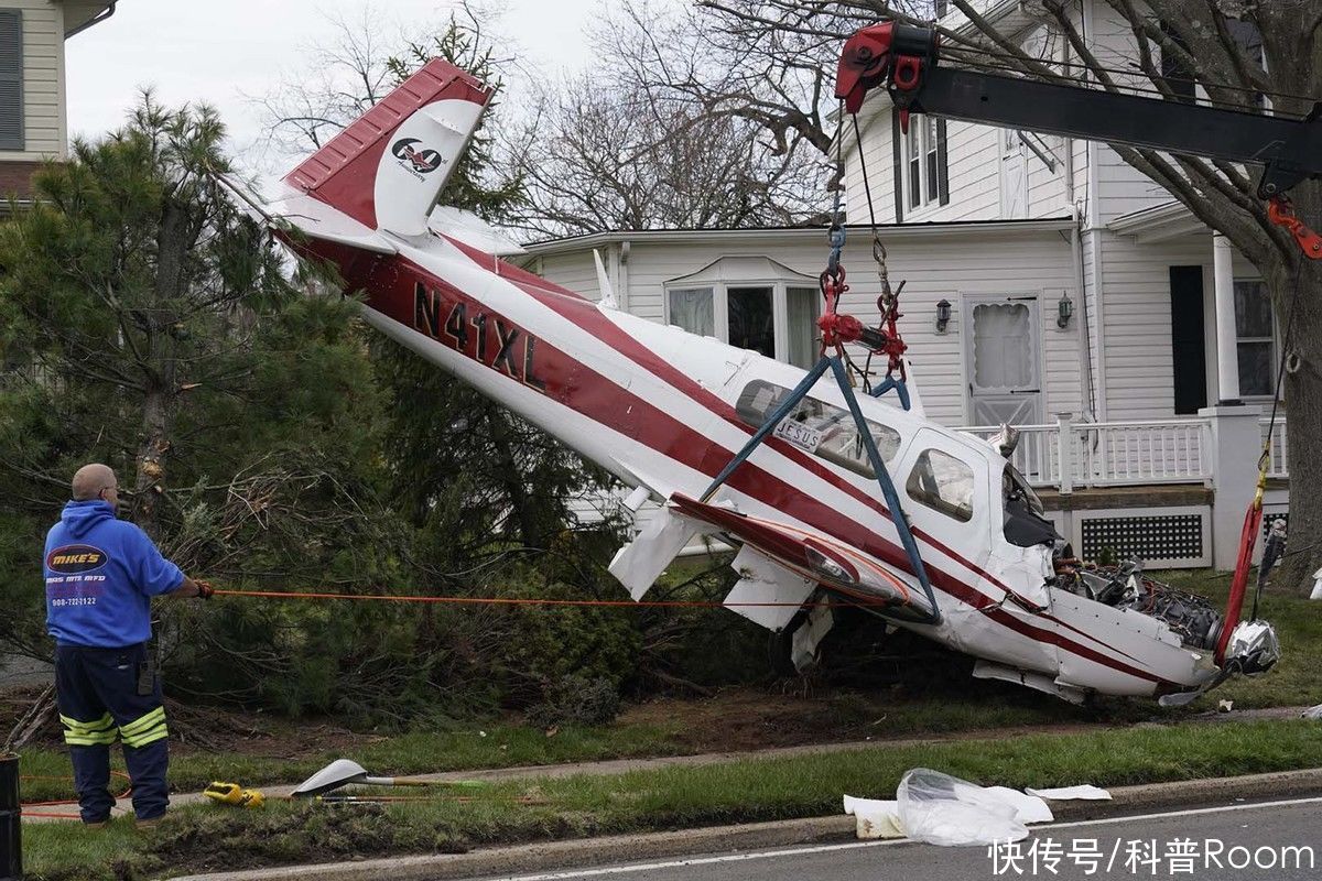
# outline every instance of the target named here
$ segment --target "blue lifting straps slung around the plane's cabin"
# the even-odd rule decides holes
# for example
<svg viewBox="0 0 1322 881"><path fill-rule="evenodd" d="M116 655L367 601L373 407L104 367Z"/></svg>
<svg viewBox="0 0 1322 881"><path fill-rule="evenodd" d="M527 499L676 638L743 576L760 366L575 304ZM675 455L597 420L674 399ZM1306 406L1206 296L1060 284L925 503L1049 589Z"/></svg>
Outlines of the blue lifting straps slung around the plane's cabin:
<svg viewBox="0 0 1322 881"><path fill-rule="evenodd" d="M743 449L740 449L735 457L731 458L723 469L720 469L720 473L717 474L715 479L711 481L711 485L706 489L706 491L703 491L701 501L707 502L711 499L711 495L720 487L722 483L730 479L730 476L734 474L735 469L743 465L748 457L752 456L752 452L758 449L764 440L767 440L767 436L776 431L776 425L779 425L791 413L791 411L798 405L798 402L808 396L808 392L812 391L813 386L817 384L817 380L821 379L828 370L834 374L836 382L839 384L839 391L845 396L845 403L849 405L849 412L854 417L854 425L858 428L858 436L863 441L863 448L867 450L867 460L873 464L873 472L876 474L876 482L882 487L882 497L886 499L886 507L891 512L891 522L895 523L895 530L900 536L900 544L904 546L904 553L908 555L910 567L914 569L914 575L917 576L919 584L923 586L923 592L927 594L928 602L932 604L932 614L924 614L923 618L919 619L919 623L940 623L941 609L936 604L936 594L932 592L932 584L927 577L927 565L924 565L923 557L917 552L917 542L914 540L914 530L910 527L908 516L906 516L904 509L900 507L900 498L895 491L895 483L891 481L890 472L886 470L882 454L876 450L876 441L873 439L873 432L867 428L863 412L858 408L858 396L854 394L854 388L849 384L849 374L845 371L845 365L841 362L838 355L824 354L821 357L817 365L808 371L806 376L804 376L802 382L795 386L795 390L789 392L789 396L776 405L776 409L772 411L771 416L767 417L767 421L761 424L761 428L754 432L754 436L748 439L748 442L744 444ZM903 382L891 376L887 376L886 382L870 394L876 396L890 391L891 388L896 390L896 394L900 396L900 403L904 405L904 409L908 409L908 390L904 387Z"/></svg>

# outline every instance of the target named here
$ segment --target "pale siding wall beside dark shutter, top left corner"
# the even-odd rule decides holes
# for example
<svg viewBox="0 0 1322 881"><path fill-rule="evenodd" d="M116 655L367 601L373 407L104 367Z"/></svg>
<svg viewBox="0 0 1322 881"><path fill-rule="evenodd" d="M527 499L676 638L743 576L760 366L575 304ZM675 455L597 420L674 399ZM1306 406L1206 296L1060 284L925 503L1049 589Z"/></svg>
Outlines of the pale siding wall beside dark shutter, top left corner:
<svg viewBox="0 0 1322 881"><path fill-rule="evenodd" d="M22 11L22 133L26 147L0 151L0 161L63 159L63 8L49 0L0 0L0 7Z"/></svg>

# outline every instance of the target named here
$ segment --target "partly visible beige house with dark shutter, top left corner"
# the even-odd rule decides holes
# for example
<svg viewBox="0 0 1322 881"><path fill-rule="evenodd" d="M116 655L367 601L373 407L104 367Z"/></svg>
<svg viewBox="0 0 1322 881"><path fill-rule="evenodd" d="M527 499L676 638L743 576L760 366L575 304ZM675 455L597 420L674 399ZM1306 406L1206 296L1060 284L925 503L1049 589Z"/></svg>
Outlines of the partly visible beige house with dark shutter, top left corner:
<svg viewBox="0 0 1322 881"><path fill-rule="evenodd" d="M115 0L0 0L0 198L30 198L33 172L67 156L65 40L114 13Z"/></svg>

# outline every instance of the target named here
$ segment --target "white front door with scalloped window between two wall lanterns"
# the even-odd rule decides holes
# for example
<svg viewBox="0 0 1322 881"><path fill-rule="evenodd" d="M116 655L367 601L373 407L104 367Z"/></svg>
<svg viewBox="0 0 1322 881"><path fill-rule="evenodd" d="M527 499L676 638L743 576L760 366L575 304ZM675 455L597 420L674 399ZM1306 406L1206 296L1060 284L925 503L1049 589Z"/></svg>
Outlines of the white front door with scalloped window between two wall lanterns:
<svg viewBox="0 0 1322 881"><path fill-rule="evenodd" d="M969 421L1042 421L1038 297L964 297Z"/></svg>

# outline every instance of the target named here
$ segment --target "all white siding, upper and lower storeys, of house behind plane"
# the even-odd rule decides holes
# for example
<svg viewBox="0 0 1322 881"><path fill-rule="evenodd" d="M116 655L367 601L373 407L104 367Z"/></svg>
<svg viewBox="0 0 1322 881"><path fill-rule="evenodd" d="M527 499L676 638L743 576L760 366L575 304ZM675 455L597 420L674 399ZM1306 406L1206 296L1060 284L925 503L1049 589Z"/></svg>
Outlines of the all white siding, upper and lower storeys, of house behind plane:
<svg viewBox="0 0 1322 881"><path fill-rule="evenodd" d="M1107 3L1083 0L1088 7L1084 28L1093 52L1108 66L1128 66L1134 57L1133 34L1124 17ZM865 106L862 153L867 162L873 205L878 223L895 222L895 174L892 159L892 116L884 96ZM853 128L845 127L845 186L850 223L867 222L867 202L859 153ZM982 221L1001 218L1001 139L998 129L951 122L948 127L948 169L951 202L945 206L904 209L906 223ZM1208 374L1214 379L1208 399L1215 400L1215 333L1212 326L1212 267L1207 235L1191 235L1161 244L1137 244L1132 236L1120 236L1105 229L1116 217L1130 214L1170 201L1170 194L1138 170L1126 165L1105 144L1077 139L1046 136L1042 139L1056 159L1048 170L1036 156L1027 156L1029 217L1068 215L1069 193L1081 210L1081 275L1087 301L1075 292L1076 269L1072 265L1068 234L1034 236L978 235L969 231L945 234L935 239L907 242L902 232L887 234L891 248L891 276L908 279L904 289L903 320L906 338L917 365L919 383L929 413L945 423L966 420L966 371L960 342L960 297L970 293L1039 293L1046 361L1046 413L1068 411L1080 413L1087 402L1080 392L1080 346L1091 337L1091 384L1097 419L1165 419L1173 415L1173 357L1170 276L1171 265L1203 265L1207 322ZM1071 162L1066 162L1066 155ZM1067 186L1067 165L1072 165L1072 188ZM857 240L857 236L855 236ZM710 246L640 246L635 243L628 267L629 309L652 320L662 316L662 284L668 279L693 272L727 254L750 254L731 250L715 236ZM813 242L780 248L761 248L800 272L816 273L825 256L825 246ZM850 262L853 275L846 310L865 321L875 321L873 301L876 280L871 268L858 258ZM858 254L855 246L854 254ZM580 260L582 263L582 260ZM549 276L568 287L566 279ZM558 269L555 269L558 271ZM579 267L587 273L587 285L595 291L591 256ZM1252 275L1243 260L1237 275ZM582 288L580 288L582 289ZM1067 330L1055 328L1055 302L1063 291L1075 300L1076 318ZM586 291L584 291L586 292ZM954 318L949 332L933 332L935 304L941 297L953 304ZM1084 314L1087 318L1084 320Z"/></svg>

